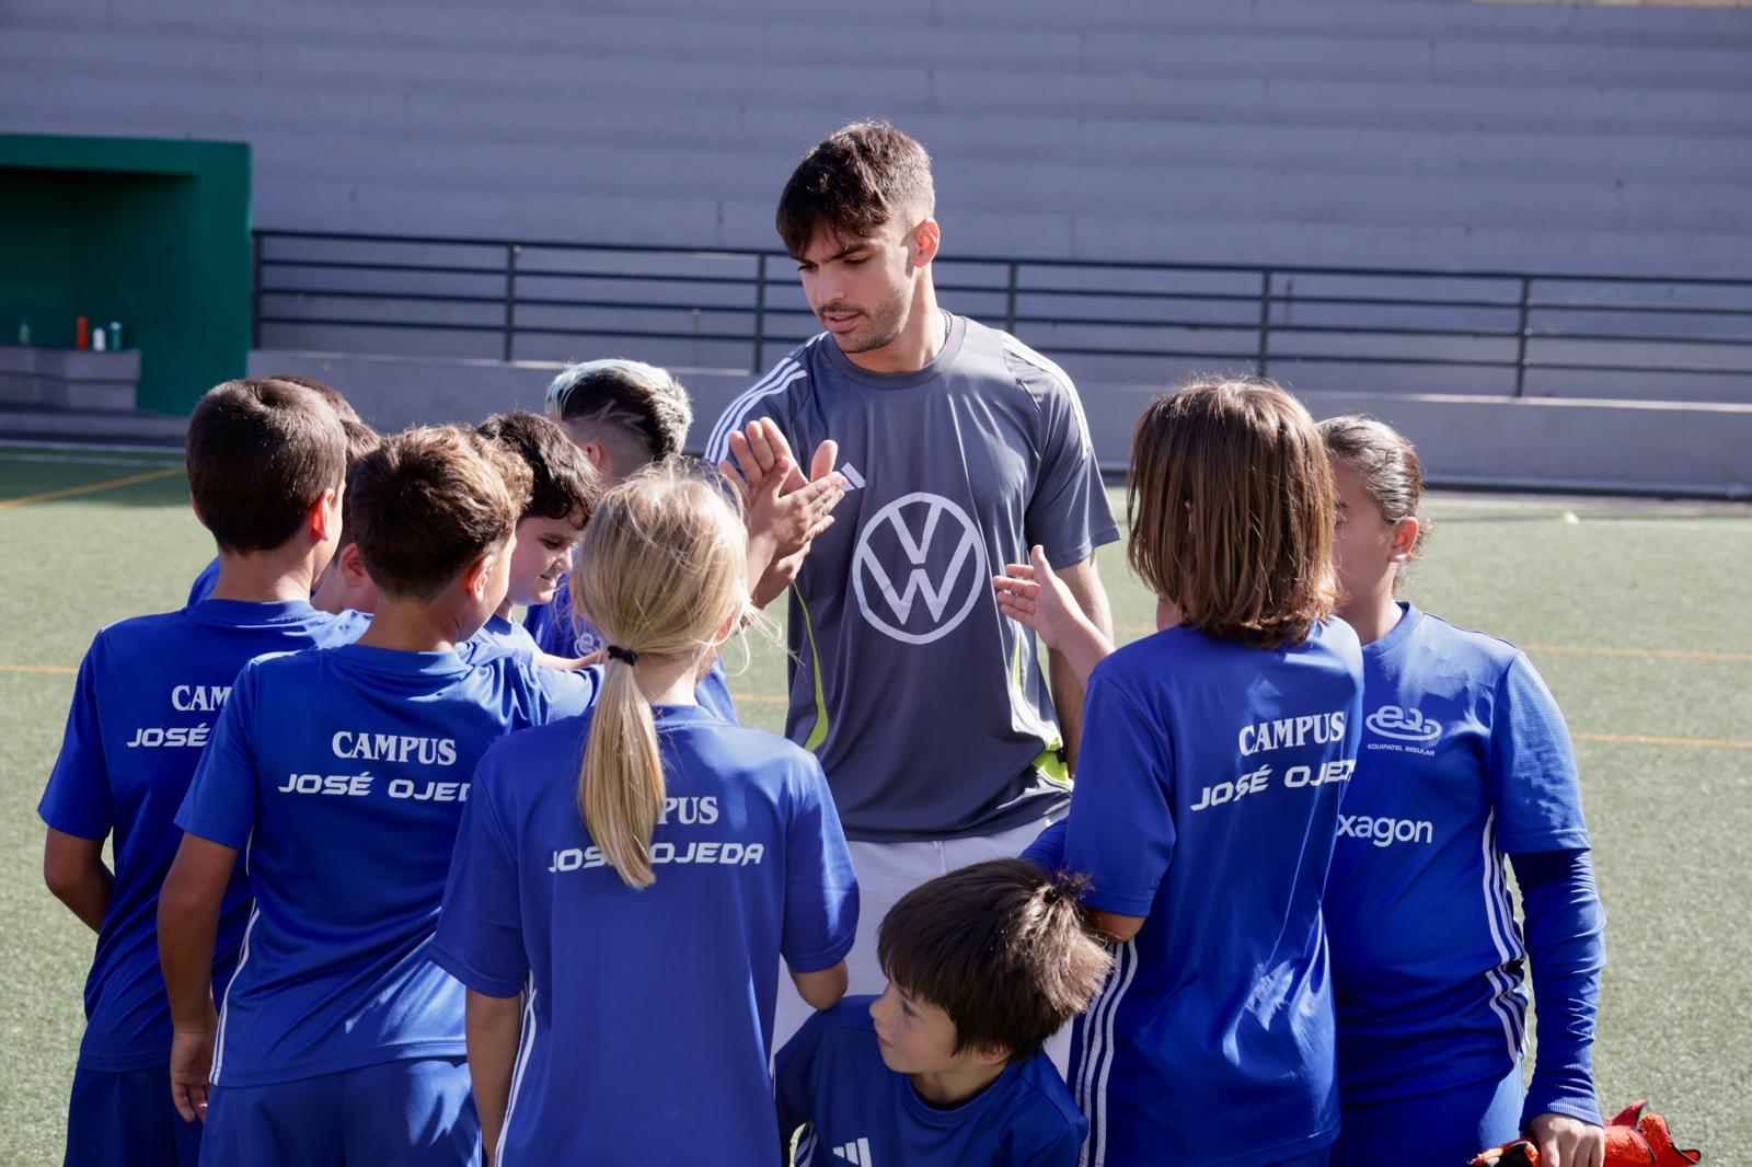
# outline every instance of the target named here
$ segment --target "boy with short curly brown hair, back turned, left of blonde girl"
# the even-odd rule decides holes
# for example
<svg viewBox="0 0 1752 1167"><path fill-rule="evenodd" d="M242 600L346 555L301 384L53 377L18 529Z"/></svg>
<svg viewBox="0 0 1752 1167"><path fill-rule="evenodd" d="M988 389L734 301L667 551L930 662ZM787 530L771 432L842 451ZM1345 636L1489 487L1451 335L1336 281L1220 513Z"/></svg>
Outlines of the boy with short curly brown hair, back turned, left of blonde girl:
<svg viewBox="0 0 1752 1167"><path fill-rule="evenodd" d="M464 429L385 442L350 477L370 629L237 678L159 895L170 1086L207 1118L203 1163L478 1158L463 987L426 948L475 762L594 692L590 673L456 654L505 596L519 475L527 491ZM214 916L244 852L256 906L215 1015Z"/></svg>

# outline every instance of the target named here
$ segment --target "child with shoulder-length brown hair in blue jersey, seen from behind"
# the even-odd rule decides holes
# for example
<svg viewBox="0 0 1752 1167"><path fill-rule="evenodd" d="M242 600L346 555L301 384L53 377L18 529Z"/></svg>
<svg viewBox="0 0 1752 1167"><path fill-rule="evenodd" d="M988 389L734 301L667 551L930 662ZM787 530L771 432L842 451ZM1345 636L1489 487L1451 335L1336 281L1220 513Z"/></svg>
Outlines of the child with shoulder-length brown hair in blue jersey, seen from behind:
<svg viewBox="0 0 1752 1167"><path fill-rule="evenodd" d="M997 580L1006 612L1077 668L1099 661L1060 839L1090 876L1090 923L1120 941L1070 1041L1083 1162L1325 1163L1339 1097L1321 897L1363 680L1356 633L1332 619L1332 470L1277 385L1193 384L1139 419L1128 510L1155 636L1102 659L1039 554Z"/></svg>

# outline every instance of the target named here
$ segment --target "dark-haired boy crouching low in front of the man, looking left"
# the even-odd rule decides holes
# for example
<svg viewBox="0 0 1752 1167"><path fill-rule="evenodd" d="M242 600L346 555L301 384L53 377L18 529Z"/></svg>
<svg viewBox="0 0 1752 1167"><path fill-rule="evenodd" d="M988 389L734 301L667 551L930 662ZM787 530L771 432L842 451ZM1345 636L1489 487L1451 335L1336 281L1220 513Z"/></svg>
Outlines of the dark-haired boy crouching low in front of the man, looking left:
<svg viewBox="0 0 1752 1167"><path fill-rule="evenodd" d="M888 911L881 997L846 997L778 1051L797 1167L1076 1167L1088 1134L1046 1039L1113 967L1079 885L997 859L913 888Z"/></svg>

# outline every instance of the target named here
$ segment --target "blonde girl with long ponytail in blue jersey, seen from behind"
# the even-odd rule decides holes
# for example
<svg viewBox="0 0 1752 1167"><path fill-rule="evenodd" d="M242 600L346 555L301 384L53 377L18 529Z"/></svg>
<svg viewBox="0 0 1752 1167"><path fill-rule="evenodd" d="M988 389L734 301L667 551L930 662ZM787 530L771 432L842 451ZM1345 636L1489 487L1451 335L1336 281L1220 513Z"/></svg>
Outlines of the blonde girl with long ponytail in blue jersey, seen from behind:
<svg viewBox="0 0 1752 1167"><path fill-rule="evenodd" d="M857 881L827 780L696 685L750 617L741 517L697 468L611 489L571 576L594 710L475 773L433 958L470 988L492 1163L766 1163L778 962L834 1004Z"/></svg>

